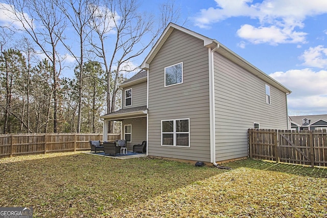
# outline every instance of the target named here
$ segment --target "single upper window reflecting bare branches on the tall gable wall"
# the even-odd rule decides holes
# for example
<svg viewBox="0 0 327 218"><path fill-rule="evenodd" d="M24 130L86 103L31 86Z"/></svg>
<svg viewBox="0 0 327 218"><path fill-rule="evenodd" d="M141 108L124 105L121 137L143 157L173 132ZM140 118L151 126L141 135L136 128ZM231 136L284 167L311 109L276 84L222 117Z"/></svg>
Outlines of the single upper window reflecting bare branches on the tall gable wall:
<svg viewBox="0 0 327 218"><path fill-rule="evenodd" d="M165 87L183 83L183 62L165 67Z"/></svg>

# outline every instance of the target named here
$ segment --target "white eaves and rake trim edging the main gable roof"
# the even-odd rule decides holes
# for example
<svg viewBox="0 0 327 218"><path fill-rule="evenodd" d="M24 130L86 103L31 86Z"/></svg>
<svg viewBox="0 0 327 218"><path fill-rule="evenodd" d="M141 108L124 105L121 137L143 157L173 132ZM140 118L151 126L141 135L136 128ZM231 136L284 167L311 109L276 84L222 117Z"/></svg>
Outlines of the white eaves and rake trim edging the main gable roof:
<svg viewBox="0 0 327 218"><path fill-rule="evenodd" d="M152 50L150 51L150 53L148 54L148 56L146 57L146 59L142 63L142 65L141 65L142 69L145 69L145 70L149 69L151 61L153 60L153 58L159 52L161 46L166 42L166 40L168 39L170 34L175 29L179 30L179 31L182 31L182 32L184 32L186 34L192 35L192 36L194 36L194 37L196 37L198 39L203 40L203 46L205 46L205 47L208 47L208 48L211 47L212 49L215 48L215 47L218 48L216 50L216 52L220 53L221 55L228 58L232 62L242 66L245 69L247 69L249 72L251 72L256 77L259 77L263 81L265 81L268 84L278 88L279 90L283 91L284 93L291 93L291 91L288 88L286 88L281 83L278 83L276 80L269 77L263 71L256 68L255 66L250 64L248 61L246 61L245 59L243 59L242 57L240 57L236 53L229 50L226 46L224 46L223 44L221 44L217 40L205 37L205 36L203 36L201 34L198 34L198 33L193 32L191 30L180 27L180 26L176 25L175 23L169 23L169 25L165 29L164 33L162 33L162 35L160 36L158 41L155 43L154 47L152 48Z"/></svg>

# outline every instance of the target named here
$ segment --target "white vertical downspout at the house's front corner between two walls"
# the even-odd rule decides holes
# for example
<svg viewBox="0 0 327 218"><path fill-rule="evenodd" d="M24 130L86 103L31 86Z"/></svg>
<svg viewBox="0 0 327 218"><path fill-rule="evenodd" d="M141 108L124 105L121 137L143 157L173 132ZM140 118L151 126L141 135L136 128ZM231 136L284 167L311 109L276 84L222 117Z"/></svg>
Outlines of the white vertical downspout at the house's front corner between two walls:
<svg viewBox="0 0 327 218"><path fill-rule="evenodd" d="M216 127L215 127L215 70L214 53L219 49L219 44L211 49L209 47L209 111L210 111L210 162L216 163Z"/></svg>

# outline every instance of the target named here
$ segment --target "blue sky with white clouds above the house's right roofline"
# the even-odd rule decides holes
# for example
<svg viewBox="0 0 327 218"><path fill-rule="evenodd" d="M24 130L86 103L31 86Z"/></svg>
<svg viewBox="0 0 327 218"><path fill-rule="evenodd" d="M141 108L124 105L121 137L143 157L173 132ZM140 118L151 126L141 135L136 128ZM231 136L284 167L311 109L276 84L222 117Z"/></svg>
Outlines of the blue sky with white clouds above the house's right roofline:
<svg viewBox="0 0 327 218"><path fill-rule="evenodd" d="M138 0L149 15L165 2ZM289 88L289 115L327 114L327 0L174 2L187 20L178 25L216 39ZM8 17L0 8L0 25ZM141 65L147 54L131 64Z"/></svg>

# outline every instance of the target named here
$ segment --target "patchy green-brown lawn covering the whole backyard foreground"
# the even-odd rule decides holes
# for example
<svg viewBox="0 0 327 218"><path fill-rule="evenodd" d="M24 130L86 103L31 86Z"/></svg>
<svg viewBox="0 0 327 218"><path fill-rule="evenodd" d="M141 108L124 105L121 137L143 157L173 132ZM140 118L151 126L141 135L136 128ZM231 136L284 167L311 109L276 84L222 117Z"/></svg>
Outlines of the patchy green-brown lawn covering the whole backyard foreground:
<svg viewBox="0 0 327 218"><path fill-rule="evenodd" d="M327 168L256 160L233 169L83 153L0 159L0 207L34 217L327 217Z"/></svg>

